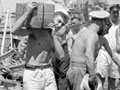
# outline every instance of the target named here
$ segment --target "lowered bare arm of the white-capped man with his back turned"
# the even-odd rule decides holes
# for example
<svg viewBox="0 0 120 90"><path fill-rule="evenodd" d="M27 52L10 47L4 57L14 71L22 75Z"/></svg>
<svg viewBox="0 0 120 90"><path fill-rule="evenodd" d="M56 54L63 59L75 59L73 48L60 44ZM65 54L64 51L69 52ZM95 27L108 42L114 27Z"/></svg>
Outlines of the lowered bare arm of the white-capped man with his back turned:
<svg viewBox="0 0 120 90"><path fill-rule="evenodd" d="M87 67L88 67L88 72L91 76L95 76L95 63L94 62L95 62L95 48L96 48L97 41L98 41L98 37L96 35L91 35L87 38L86 45L85 45Z"/></svg>

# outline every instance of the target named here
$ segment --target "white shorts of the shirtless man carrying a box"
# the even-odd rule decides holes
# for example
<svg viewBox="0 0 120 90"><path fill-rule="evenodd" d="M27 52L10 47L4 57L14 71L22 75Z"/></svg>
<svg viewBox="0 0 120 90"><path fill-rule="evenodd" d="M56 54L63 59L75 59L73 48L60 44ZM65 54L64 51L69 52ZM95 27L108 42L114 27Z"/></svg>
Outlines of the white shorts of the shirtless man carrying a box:
<svg viewBox="0 0 120 90"><path fill-rule="evenodd" d="M57 90L52 68L24 70L24 90Z"/></svg>

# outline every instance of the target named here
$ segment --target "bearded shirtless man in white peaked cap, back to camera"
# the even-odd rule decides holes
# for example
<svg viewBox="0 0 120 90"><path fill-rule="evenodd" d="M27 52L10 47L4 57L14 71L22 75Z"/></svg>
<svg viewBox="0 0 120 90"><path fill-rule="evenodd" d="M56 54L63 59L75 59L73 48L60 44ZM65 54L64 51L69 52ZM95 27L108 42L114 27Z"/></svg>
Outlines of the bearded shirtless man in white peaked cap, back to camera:
<svg viewBox="0 0 120 90"><path fill-rule="evenodd" d="M120 61L112 53L106 39L103 38L103 35L108 33L106 18L109 17L109 13L100 10L93 11L89 15L92 17L91 24L85 31L79 33L72 48L71 63L68 70L70 90L80 90L80 84L86 70L90 75L89 82L94 83L96 76L94 61L101 45L105 47L113 60L120 66Z"/></svg>

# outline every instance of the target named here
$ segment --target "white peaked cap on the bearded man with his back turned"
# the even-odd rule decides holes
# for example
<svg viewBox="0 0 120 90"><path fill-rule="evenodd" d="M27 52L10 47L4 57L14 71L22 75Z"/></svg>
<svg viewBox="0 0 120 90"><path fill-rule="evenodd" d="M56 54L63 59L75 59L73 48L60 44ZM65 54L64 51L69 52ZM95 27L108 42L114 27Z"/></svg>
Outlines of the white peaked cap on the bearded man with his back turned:
<svg viewBox="0 0 120 90"><path fill-rule="evenodd" d="M110 16L109 12L105 10L92 11L89 13L92 18L104 19Z"/></svg>

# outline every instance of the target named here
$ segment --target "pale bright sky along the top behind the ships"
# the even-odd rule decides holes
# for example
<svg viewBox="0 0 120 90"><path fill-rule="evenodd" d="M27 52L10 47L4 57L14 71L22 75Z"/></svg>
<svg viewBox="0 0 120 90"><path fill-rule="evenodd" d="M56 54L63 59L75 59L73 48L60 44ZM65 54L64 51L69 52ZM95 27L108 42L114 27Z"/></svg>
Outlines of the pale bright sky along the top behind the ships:
<svg viewBox="0 0 120 90"><path fill-rule="evenodd" d="M6 12L7 10L11 10L15 12L16 10L16 3L24 3L29 1L47 1L47 0L0 0L0 12ZM101 0L100 0L101 1ZM108 3L111 4L120 4L120 0L108 0ZM1 8L2 7L2 8Z"/></svg>

